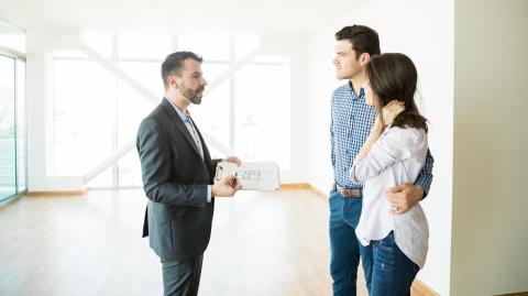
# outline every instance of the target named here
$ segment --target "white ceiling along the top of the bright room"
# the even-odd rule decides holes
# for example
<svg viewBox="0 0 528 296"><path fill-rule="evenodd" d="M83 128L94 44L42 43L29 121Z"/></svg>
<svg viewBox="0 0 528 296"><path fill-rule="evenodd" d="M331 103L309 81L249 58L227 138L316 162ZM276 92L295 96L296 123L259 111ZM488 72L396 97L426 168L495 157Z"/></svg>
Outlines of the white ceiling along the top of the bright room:
<svg viewBox="0 0 528 296"><path fill-rule="evenodd" d="M24 29L240 30L306 35L365 0L0 0L0 18Z"/></svg>

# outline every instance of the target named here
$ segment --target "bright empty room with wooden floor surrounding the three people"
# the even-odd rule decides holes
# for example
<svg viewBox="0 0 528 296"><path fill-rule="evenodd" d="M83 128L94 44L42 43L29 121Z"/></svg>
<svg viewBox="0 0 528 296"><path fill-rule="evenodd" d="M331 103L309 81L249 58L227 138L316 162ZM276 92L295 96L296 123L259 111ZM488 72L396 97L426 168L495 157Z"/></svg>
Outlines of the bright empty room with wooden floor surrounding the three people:
<svg viewBox="0 0 528 296"><path fill-rule="evenodd" d="M432 184L411 295L528 295L528 2L0 0L0 295L163 295L138 131L199 54L211 158L278 166L215 198L198 295L332 295L336 32L416 65ZM359 270L358 295L369 295Z"/></svg>

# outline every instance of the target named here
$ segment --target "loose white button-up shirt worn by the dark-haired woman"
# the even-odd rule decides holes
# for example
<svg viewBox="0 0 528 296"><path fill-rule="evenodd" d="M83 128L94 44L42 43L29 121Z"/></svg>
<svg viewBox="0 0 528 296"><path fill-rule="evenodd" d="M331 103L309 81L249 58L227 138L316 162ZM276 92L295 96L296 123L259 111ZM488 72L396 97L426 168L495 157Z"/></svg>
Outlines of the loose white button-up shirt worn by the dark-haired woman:
<svg viewBox="0 0 528 296"><path fill-rule="evenodd" d="M387 190L415 183L426 162L427 147L425 130L388 127L369 155L350 171L352 182L364 183L363 208L355 229L359 241L367 245L371 240L382 240L394 231L398 248L420 268L429 244L426 215L419 202L403 215L392 213Z"/></svg>

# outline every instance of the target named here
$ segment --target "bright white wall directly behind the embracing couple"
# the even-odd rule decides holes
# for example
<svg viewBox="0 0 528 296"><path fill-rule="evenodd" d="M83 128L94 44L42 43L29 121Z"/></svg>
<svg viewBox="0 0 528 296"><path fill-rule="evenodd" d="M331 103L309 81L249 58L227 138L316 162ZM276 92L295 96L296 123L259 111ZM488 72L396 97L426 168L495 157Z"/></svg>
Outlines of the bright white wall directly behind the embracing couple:
<svg viewBox="0 0 528 296"><path fill-rule="evenodd" d="M352 8L351 8L352 10ZM441 295L449 293L453 138L453 2L373 0L312 34L309 61L309 182L327 191L333 180L330 163L330 98L344 84L336 80L332 64L334 33L344 25L375 29L382 52L402 52L415 62L421 83L435 179L422 201L430 227L426 266L418 274Z"/></svg>

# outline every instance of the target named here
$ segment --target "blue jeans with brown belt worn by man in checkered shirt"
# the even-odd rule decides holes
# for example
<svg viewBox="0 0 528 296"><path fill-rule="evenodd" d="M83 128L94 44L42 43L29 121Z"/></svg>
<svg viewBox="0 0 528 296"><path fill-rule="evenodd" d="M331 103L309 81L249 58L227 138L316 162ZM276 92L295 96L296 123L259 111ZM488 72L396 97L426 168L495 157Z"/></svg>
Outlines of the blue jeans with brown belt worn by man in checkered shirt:
<svg viewBox="0 0 528 296"><path fill-rule="evenodd" d="M361 216L361 198L344 198L339 191L330 193L330 274L334 296L356 295L360 254L365 273L366 288L371 290L373 254L355 237Z"/></svg>

